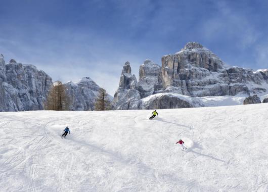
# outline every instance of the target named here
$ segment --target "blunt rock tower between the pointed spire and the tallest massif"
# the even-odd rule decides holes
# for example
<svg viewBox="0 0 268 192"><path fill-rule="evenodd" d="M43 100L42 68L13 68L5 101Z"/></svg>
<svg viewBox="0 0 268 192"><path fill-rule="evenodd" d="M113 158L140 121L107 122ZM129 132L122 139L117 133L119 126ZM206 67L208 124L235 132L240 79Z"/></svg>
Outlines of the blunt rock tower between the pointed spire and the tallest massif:
<svg viewBox="0 0 268 192"><path fill-rule="evenodd" d="M138 90L142 98L154 94L157 86L161 84L161 67L150 60L140 66Z"/></svg>

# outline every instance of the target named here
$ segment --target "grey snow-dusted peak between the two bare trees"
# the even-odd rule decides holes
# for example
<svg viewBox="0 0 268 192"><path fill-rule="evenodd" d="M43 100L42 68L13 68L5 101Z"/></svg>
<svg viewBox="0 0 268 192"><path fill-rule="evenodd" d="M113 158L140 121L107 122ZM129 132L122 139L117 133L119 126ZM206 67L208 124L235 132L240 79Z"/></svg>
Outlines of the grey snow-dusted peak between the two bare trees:
<svg viewBox="0 0 268 192"><path fill-rule="evenodd" d="M90 77L84 77L77 83L65 83L65 86L66 93L70 99L69 110L91 111L95 109L95 100L98 97L99 89L101 87ZM112 97L109 95L109 98Z"/></svg>

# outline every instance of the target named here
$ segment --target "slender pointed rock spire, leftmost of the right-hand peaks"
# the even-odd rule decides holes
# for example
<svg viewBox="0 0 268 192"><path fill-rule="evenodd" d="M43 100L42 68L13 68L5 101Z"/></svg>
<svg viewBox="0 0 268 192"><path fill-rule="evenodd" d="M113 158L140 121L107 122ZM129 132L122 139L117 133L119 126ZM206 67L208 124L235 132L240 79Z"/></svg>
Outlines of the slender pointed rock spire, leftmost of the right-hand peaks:
<svg viewBox="0 0 268 192"><path fill-rule="evenodd" d="M130 64L126 62L121 73L119 87L114 94L112 109L138 109L141 103L140 99L141 94L138 90L136 76L131 74Z"/></svg>

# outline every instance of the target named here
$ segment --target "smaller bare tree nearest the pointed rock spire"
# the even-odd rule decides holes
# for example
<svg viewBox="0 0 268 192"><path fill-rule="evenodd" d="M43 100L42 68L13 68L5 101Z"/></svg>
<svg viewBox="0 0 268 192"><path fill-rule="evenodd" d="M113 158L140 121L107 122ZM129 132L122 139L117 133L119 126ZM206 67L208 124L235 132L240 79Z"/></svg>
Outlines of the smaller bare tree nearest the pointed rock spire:
<svg viewBox="0 0 268 192"><path fill-rule="evenodd" d="M105 89L100 88L98 98L95 102L96 111L105 111L111 109L111 102Z"/></svg>

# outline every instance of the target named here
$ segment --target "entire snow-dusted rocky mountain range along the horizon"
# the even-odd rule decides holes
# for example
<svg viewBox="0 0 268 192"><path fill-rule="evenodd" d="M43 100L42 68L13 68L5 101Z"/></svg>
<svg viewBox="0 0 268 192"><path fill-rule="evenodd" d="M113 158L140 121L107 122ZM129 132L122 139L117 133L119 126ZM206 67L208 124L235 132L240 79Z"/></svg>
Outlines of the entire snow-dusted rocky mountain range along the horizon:
<svg viewBox="0 0 268 192"><path fill-rule="evenodd" d="M146 60L139 80L123 65L119 87L110 99L113 110L172 109L242 105L245 98L268 97L268 70L232 67L197 42L188 42L174 55L165 55L159 66ZM66 93L72 111L94 110L100 86L90 77L67 82ZM0 55L0 112L43 110L52 78L34 65Z"/></svg>

